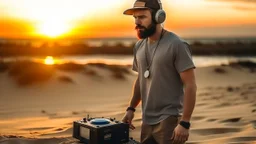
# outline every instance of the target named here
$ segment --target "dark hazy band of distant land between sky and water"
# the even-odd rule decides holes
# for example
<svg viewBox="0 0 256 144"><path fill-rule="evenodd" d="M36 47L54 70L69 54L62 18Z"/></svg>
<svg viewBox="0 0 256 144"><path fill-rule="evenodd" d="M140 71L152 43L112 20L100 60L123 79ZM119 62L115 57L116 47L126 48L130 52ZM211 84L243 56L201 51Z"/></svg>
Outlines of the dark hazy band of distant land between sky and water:
<svg viewBox="0 0 256 144"><path fill-rule="evenodd" d="M256 55L256 38L185 39L193 55ZM28 40L0 39L0 56L133 54L136 38Z"/></svg>

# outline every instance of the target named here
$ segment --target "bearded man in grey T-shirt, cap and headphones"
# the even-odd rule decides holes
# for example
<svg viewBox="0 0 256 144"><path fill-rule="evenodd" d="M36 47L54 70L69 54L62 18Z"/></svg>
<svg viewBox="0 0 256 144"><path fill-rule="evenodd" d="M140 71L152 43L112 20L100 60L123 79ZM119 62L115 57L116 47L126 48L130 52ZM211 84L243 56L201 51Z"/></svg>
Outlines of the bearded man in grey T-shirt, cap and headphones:
<svg viewBox="0 0 256 144"><path fill-rule="evenodd" d="M132 119L141 102L142 144L185 143L196 100L188 44L161 26L166 14L158 0L137 0L124 14L133 15L140 40L133 61L138 78L122 121L134 129Z"/></svg>

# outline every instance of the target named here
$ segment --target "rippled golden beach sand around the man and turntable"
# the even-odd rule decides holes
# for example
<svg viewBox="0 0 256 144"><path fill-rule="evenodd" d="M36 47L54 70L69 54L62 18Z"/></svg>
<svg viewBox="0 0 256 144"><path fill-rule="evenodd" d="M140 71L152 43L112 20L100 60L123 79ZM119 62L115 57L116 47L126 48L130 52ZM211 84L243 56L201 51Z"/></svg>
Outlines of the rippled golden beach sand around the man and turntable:
<svg viewBox="0 0 256 144"><path fill-rule="evenodd" d="M130 66L54 69L47 81L19 81L0 72L0 143L70 144L83 117L121 120L137 74ZM118 72L117 72L118 71ZM256 72L241 65L196 68L197 101L188 144L256 144ZM17 83L18 81L18 83ZM140 137L138 106L130 131Z"/></svg>

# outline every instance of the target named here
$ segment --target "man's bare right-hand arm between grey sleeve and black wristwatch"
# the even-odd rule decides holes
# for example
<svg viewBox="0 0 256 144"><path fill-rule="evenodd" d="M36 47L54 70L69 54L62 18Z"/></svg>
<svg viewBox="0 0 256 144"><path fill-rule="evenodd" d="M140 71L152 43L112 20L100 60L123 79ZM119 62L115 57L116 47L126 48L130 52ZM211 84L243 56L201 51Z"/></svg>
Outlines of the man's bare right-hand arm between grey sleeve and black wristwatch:
<svg viewBox="0 0 256 144"><path fill-rule="evenodd" d="M196 103L196 79L194 69L189 69L180 73L180 77L184 84L184 102L183 102L183 115L181 120L189 122L193 113Z"/></svg>

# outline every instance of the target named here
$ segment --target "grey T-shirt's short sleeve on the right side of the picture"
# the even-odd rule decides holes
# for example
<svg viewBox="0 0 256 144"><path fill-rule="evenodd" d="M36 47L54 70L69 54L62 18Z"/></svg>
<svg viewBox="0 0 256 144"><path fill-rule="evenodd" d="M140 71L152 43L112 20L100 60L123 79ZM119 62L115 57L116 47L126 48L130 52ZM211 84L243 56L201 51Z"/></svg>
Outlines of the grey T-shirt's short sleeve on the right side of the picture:
<svg viewBox="0 0 256 144"><path fill-rule="evenodd" d="M181 42L176 46L174 65L179 73L195 68L189 44L186 42Z"/></svg>

